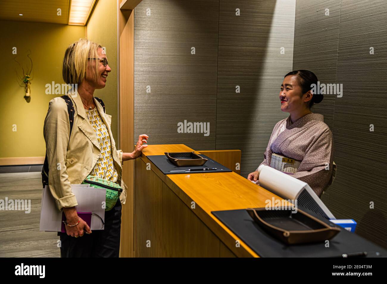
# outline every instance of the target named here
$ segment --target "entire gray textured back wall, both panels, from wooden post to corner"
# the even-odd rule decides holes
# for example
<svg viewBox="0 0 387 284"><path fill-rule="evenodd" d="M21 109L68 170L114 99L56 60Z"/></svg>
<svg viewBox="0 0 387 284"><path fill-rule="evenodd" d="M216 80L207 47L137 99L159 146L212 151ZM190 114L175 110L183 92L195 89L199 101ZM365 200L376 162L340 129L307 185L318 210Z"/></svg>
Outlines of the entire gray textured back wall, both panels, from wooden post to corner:
<svg viewBox="0 0 387 284"><path fill-rule="evenodd" d="M254 171L274 125L288 115L278 95L293 64L294 14L295 0L143 0L134 19L135 136L240 149L241 174ZM210 135L177 133L184 120L210 122Z"/></svg>

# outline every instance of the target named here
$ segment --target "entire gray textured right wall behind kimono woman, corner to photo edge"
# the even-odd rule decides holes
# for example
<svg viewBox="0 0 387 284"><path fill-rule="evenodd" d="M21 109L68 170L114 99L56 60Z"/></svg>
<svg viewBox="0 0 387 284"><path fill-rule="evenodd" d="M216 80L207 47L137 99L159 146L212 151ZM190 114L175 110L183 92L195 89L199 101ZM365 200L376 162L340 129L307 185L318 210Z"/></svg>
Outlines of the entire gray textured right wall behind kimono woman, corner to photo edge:
<svg viewBox="0 0 387 284"><path fill-rule="evenodd" d="M321 82L343 84L341 98L326 95L313 107L324 114L333 133L337 164L336 180L322 199L336 218L355 219L356 233L383 247L387 126L381 86L387 81L386 14L384 0L297 0L293 61L293 69L311 70Z"/></svg>

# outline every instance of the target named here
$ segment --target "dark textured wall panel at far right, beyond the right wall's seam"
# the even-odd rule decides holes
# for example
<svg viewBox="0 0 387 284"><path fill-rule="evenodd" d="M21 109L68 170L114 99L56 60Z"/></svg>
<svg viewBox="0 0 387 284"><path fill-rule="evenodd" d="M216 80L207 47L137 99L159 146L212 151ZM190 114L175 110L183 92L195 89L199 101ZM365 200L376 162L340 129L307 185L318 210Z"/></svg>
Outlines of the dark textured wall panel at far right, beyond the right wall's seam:
<svg viewBox="0 0 387 284"><path fill-rule="evenodd" d="M335 99L337 184L329 206L358 221L357 233L387 247L387 2L342 0ZM370 54L370 47L375 54ZM370 132L370 124L375 130ZM370 202L375 208L370 209Z"/></svg>

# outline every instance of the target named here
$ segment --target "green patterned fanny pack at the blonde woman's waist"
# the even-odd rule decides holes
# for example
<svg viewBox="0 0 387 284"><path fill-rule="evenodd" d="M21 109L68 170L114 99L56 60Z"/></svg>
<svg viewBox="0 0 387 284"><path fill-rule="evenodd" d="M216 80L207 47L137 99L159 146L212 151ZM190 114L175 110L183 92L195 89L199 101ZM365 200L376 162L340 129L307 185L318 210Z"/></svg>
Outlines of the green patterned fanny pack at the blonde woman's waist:
<svg viewBox="0 0 387 284"><path fill-rule="evenodd" d="M116 205L117 200L120 198L122 188L120 185L110 180L101 179L95 175L88 175L82 184L90 184L92 187L106 189L106 207L105 211L109 211Z"/></svg>

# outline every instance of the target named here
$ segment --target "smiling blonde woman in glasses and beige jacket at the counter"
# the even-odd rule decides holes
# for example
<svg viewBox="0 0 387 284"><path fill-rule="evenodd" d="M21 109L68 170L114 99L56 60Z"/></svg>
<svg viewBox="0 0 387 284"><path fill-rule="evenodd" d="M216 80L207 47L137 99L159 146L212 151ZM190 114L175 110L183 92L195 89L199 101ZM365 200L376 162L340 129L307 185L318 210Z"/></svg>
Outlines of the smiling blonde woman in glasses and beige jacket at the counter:
<svg viewBox="0 0 387 284"><path fill-rule="evenodd" d="M66 233L58 232L61 257L118 257L121 230L121 202L105 211L104 230L91 231L78 216L78 205L71 184L82 184L89 177L125 188L122 163L138 158L147 147L146 134L139 136L132 153L116 150L111 133L111 115L94 97L96 89L104 88L111 71L102 46L87 39L70 44L63 58L62 75L67 84L77 84L77 93L67 96L74 106L70 135L67 103L53 98L44 124L48 186L58 210L65 214ZM125 197L125 192L120 197ZM84 234L86 233L86 234Z"/></svg>

